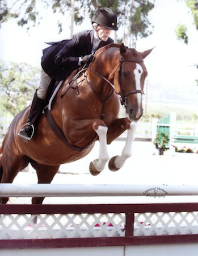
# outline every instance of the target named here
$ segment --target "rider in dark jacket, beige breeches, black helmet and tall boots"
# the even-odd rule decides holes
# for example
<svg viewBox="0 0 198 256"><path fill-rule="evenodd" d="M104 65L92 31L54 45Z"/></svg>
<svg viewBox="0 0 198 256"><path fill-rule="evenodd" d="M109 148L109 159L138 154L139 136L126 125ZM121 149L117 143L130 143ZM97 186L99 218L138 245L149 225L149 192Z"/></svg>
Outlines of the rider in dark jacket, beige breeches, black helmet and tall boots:
<svg viewBox="0 0 198 256"><path fill-rule="evenodd" d="M113 43L109 38L111 30L118 30L117 17L107 7L96 10L91 19L93 30L85 30L70 40L48 43L41 58L41 81L32 100L26 125L19 136L27 141L33 136L36 121L43 111L47 89L52 80L64 80L68 75L93 59L93 53L100 47Z"/></svg>

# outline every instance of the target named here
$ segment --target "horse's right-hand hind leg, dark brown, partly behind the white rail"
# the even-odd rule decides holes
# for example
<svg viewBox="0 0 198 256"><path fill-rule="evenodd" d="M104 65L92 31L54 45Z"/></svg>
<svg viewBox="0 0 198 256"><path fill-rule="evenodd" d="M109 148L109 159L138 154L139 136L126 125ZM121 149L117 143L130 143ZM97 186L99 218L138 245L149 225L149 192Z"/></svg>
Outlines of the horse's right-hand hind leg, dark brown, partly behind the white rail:
<svg viewBox="0 0 198 256"><path fill-rule="evenodd" d="M31 165L36 170L38 183L51 183L59 168L59 166L45 166L35 162L32 162ZM42 204L44 198L45 197L33 197L32 204Z"/></svg>

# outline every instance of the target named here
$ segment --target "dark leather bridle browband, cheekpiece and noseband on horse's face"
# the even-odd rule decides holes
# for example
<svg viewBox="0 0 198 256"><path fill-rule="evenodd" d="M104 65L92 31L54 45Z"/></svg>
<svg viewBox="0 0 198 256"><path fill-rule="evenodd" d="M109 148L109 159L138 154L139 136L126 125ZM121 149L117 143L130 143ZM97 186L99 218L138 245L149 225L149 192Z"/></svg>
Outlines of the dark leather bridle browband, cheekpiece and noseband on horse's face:
<svg viewBox="0 0 198 256"><path fill-rule="evenodd" d="M144 62L143 60L124 60L122 59L122 57L120 58L120 65L119 65L119 85L120 85L120 90L121 90L121 105L124 105L124 107L126 108L127 107L127 96L129 96L130 94L136 94L136 93L141 93L141 94L144 94L144 92L142 90L130 90L129 92L125 92L124 89L123 89L123 84L121 82L121 64L123 62L134 62L134 63L138 63L138 62Z"/></svg>

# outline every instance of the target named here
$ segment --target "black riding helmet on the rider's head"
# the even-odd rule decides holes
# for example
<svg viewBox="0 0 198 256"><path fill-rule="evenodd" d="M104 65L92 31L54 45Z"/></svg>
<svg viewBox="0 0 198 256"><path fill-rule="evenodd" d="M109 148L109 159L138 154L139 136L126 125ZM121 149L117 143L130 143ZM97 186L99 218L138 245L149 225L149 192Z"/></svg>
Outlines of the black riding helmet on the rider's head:
<svg viewBox="0 0 198 256"><path fill-rule="evenodd" d="M92 16L91 23L97 23L107 28L108 30L118 30L117 16L107 7L96 10Z"/></svg>

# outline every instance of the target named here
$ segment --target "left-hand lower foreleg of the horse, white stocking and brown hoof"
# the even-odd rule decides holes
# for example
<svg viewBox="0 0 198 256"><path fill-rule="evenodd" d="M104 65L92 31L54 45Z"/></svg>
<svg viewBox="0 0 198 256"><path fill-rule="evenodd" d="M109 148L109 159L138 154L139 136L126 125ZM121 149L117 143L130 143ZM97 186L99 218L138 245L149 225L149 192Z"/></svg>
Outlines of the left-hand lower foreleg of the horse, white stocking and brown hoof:
<svg viewBox="0 0 198 256"><path fill-rule="evenodd" d="M90 173L95 176L104 170L105 164L109 159L109 155L107 152L107 126L99 125L97 129L94 128L94 130L98 134L100 142L99 158L90 163Z"/></svg>

